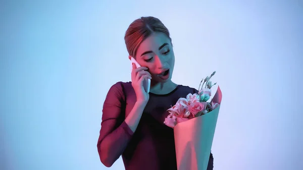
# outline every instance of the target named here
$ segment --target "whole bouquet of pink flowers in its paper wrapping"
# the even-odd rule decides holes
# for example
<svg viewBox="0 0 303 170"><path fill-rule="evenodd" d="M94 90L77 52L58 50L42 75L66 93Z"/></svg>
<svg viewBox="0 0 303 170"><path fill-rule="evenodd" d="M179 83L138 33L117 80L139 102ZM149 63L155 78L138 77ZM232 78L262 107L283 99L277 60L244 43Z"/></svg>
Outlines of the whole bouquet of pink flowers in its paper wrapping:
<svg viewBox="0 0 303 170"><path fill-rule="evenodd" d="M222 100L218 87L213 99L208 102L211 88L216 84L210 81L215 73L201 80L197 93L179 98L168 109L170 115L165 118L164 124L174 129L178 170L207 169Z"/></svg>

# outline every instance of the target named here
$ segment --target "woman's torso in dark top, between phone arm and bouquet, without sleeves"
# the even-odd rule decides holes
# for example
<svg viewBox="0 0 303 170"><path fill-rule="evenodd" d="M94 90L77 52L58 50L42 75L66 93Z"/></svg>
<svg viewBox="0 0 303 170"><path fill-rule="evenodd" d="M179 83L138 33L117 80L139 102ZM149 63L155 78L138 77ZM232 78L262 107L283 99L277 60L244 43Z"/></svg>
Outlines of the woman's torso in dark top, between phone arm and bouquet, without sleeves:
<svg viewBox="0 0 303 170"><path fill-rule="evenodd" d="M131 83L124 83L126 93L125 116L136 102ZM149 93L138 127L122 154L126 170L177 169L174 145L174 131L164 124L169 115L167 109L180 97L195 93L194 88L176 85L168 94Z"/></svg>

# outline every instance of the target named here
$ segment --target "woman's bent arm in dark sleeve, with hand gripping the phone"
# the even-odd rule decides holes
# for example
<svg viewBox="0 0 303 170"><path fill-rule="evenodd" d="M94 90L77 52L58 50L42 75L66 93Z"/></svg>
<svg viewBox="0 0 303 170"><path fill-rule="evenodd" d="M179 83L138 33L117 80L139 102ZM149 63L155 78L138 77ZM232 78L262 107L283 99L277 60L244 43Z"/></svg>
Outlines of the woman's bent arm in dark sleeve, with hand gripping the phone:
<svg viewBox="0 0 303 170"><path fill-rule="evenodd" d="M131 77L132 87L136 93L136 103L127 118L125 118L125 113L121 114L122 111L125 111L121 109L125 107L122 105L125 104L122 85L120 83L113 85L106 96L97 148L101 162L107 167L112 166L124 152L131 136L137 129L149 99L149 94L145 92L142 82L146 78L151 79L151 75L145 70L147 68L136 68L133 64Z"/></svg>

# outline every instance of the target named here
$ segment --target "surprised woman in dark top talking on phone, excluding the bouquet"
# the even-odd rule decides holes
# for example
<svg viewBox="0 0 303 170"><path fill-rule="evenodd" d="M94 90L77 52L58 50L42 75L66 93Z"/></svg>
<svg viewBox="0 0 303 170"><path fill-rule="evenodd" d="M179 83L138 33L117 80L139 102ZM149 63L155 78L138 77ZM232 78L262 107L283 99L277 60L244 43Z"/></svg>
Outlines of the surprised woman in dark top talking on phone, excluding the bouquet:
<svg viewBox="0 0 303 170"><path fill-rule="evenodd" d="M100 160L110 167L122 155L126 170L177 169L174 131L163 122L168 108L197 90L172 82L172 40L159 19L135 20L124 39L129 58L142 67L133 64L131 82L118 82L107 94L97 142ZM149 93L144 79L151 79ZM213 169L212 153L208 169Z"/></svg>

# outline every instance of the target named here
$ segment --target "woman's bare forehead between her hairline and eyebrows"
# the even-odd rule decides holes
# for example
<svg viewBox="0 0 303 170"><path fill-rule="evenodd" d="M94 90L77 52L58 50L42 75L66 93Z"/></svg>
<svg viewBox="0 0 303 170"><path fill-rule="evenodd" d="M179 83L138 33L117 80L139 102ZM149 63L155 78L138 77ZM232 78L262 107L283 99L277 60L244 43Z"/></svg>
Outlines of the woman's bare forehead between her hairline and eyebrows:
<svg viewBox="0 0 303 170"><path fill-rule="evenodd" d="M137 54L149 50L159 50L158 48L164 43L170 44L170 39L164 33L155 32L141 42Z"/></svg>

